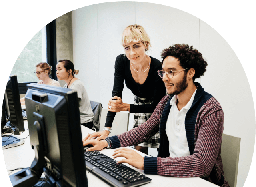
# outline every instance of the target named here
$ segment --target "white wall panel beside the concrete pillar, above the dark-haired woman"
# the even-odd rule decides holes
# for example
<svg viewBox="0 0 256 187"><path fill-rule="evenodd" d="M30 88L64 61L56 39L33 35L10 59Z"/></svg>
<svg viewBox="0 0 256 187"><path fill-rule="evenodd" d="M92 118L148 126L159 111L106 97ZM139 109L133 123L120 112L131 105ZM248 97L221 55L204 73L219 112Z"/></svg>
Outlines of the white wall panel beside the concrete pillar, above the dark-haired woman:
<svg viewBox="0 0 256 187"><path fill-rule="evenodd" d="M97 5L72 11L74 66L89 99L100 102Z"/></svg>

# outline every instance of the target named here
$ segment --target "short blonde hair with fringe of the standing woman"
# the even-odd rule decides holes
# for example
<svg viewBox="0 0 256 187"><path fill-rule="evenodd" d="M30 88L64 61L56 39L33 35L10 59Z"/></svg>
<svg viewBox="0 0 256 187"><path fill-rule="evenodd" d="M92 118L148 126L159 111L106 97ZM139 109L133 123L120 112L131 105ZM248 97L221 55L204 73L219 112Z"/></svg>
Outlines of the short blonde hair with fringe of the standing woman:
<svg viewBox="0 0 256 187"><path fill-rule="evenodd" d="M150 44L150 39L145 29L140 25L129 25L124 29L122 35L122 45L129 44L130 42L142 42L146 46L148 51Z"/></svg>

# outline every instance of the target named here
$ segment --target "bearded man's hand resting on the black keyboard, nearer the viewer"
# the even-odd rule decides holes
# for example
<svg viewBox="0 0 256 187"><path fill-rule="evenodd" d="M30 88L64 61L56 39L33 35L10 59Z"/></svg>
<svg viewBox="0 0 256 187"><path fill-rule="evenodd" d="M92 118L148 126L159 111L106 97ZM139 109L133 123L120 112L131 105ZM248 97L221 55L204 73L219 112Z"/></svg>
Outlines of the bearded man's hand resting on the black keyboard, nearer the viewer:
<svg viewBox="0 0 256 187"><path fill-rule="evenodd" d="M130 165L132 165L133 167L136 167L138 169L142 169L144 170L144 161L143 161L143 157L136 153L136 151L132 150L132 149L128 149L128 148L118 148L114 151L113 154L113 158L117 158L117 157L124 157L126 159L122 159L120 161L118 161L118 164L121 163L128 163Z"/></svg>

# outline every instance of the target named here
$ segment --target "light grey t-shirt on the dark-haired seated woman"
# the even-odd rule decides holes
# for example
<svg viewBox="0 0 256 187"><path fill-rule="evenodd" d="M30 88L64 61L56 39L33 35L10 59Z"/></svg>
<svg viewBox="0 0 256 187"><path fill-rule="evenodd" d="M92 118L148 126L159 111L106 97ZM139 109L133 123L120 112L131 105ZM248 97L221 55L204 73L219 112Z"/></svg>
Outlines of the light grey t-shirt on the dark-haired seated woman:
<svg viewBox="0 0 256 187"><path fill-rule="evenodd" d="M68 88L68 85L65 84L64 88ZM70 85L69 89L76 90L77 92L81 124L93 121L94 114L88 94L84 88L84 83L77 79Z"/></svg>

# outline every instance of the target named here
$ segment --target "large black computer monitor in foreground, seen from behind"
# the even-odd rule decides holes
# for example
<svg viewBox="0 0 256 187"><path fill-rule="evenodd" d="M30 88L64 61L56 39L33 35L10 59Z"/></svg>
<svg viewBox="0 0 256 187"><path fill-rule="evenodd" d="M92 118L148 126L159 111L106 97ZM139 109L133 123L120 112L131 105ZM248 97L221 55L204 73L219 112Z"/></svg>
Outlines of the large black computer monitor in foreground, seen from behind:
<svg viewBox="0 0 256 187"><path fill-rule="evenodd" d="M87 187L77 92L31 83L25 103L36 156L30 169L10 175L12 185L33 186L44 171L54 186Z"/></svg>

